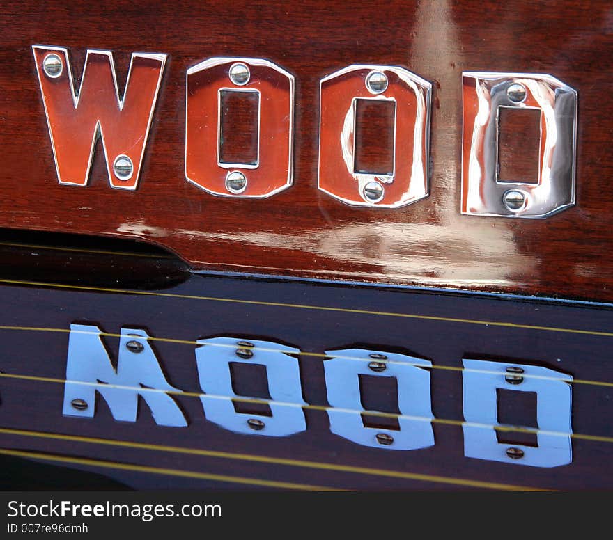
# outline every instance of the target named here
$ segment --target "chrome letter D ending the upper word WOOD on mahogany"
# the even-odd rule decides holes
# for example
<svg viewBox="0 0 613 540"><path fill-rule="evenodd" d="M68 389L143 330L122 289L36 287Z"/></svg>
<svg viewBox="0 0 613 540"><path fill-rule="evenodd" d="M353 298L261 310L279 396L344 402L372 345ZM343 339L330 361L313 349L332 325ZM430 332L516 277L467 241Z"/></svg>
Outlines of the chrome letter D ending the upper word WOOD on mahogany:
<svg viewBox="0 0 613 540"><path fill-rule="evenodd" d="M541 113L538 178L499 178L499 111ZM577 93L549 75L463 73L462 213L545 218L575 204Z"/></svg>

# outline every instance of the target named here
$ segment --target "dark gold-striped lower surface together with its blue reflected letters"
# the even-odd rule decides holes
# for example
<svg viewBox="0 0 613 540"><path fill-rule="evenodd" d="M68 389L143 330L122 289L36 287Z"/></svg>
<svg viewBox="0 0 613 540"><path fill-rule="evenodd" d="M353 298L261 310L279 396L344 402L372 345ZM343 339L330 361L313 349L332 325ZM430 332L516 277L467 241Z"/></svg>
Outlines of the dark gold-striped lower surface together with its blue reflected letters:
<svg viewBox="0 0 613 540"><path fill-rule="evenodd" d="M20 306L1 321L5 449L141 487L109 463L177 486L504 488L525 465L525 488L610 487L612 314L594 305L203 276L0 294Z"/></svg>

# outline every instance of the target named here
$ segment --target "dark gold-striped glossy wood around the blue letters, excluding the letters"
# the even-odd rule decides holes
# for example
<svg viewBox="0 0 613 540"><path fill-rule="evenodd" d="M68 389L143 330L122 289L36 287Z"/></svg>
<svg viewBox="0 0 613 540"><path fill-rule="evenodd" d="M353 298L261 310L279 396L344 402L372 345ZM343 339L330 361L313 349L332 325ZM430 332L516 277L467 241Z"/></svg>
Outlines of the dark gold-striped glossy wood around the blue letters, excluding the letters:
<svg viewBox="0 0 613 540"><path fill-rule="evenodd" d="M0 372L43 378L0 377L0 430L127 443L117 446L0 431L0 448L42 452L61 459L95 459L128 467L150 466L248 480L246 484L238 484L232 480L220 482L77 466L137 488L257 489L263 487L258 482L268 481L358 490L486 489L493 484L497 489L612 487L613 405L610 387L606 386L613 382L612 337L606 335L611 328L612 312L608 309L398 288L203 276L192 276L181 285L164 289L159 296L155 291L149 293L153 294L0 283L1 303L6 306L0 317ZM199 298L203 296L208 299ZM285 305L267 304L271 299ZM422 318L394 317L380 312ZM471 323L471 320L490 321L490 324ZM208 420L200 399L193 396L176 398L188 420L185 428L158 426L143 402L137 422L117 422L100 397L94 418L63 416L61 381L65 378L68 334L16 330L5 325L68 329L75 321L96 324L109 333L118 333L122 327L146 328L152 337L187 341L152 342L169 382L185 392L200 392L195 344L190 343L219 335L270 340L298 347L306 353L362 347L429 359L434 366L430 377L432 410L437 419L433 423L435 444L420 450L394 451L364 447L332 434L326 412L329 404L323 370L327 360L309 354L299 356L300 374L304 401L314 408L304 410L307 430L293 436L235 434ZM498 323L531 328L497 326ZM542 327L566 331L548 331ZM605 334L598 335L598 332ZM117 338L104 337L104 342L111 358L116 358ZM542 365L571 374L579 381L605 383L604 386L584 382L572 385L572 463L538 468L464 456L463 383L458 368L462 366L462 358L468 357ZM242 393L245 388L238 385L236 389ZM503 398L506 400L501 399L499 403L500 421L531 425L534 400ZM363 403L377 410L394 410L394 399L387 386L372 386ZM525 434L504 434L502 440L522 443ZM130 443L222 454L185 454L177 450L134 447ZM249 456L268 461L254 461ZM308 461L311 466L283 463L286 459ZM326 468L327 465L331 467ZM343 467L350 470L341 470ZM365 472L364 468L371 472Z"/></svg>

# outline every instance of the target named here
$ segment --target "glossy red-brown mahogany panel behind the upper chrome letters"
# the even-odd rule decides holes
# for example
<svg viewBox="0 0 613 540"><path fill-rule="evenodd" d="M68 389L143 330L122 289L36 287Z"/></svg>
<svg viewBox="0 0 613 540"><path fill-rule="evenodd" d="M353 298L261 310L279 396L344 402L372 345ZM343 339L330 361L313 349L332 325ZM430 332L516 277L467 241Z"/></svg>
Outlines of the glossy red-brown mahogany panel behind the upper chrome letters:
<svg viewBox="0 0 613 540"><path fill-rule="evenodd" d="M361 1L5 2L0 36L0 225L140 236L196 269L504 289L613 299L610 3ZM118 22L121 21L121 24ZM554 31L552 31L554 29ZM31 45L169 55L139 189L57 184ZM185 72L257 56L296 78L294 185L266 200L217 198L185 180ZM430 196L352 208L317 189L319 81L352 63L401 65L433 82ZM545 221L460 216L465 70L550 73L579 94L577 205Z"/></svg>

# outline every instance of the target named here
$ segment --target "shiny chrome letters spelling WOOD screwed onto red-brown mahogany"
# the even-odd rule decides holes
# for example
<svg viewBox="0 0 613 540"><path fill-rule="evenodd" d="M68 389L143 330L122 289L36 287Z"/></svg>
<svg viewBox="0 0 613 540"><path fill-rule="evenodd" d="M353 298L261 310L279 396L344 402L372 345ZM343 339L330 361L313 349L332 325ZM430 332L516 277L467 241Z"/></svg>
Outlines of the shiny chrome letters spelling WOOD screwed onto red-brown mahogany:
<svg viewBox="0 0 613 540"><path fill-rule="evenodd" d="M100 134L111 187L136 189L165 54L132 54L123 99L110 51L87 52L75 94L68 51L34 45L61 184L85 186ZM294 77L261 58L210 58L187 70L185 177L216 196L266 198L293 182ZM258 97L257 158L221 159L222 93ZM320 81L318 188L348 205L396 208L428 196L428 81L389 65L350 65ZM359 100L394 104L393 167L355 166ZM501 181L499 111L541 113L536 183ZM242 129L242 126L233 126ZM461 212L545 218L575 204L577 93L545 74L463 73Z"/></svg>

